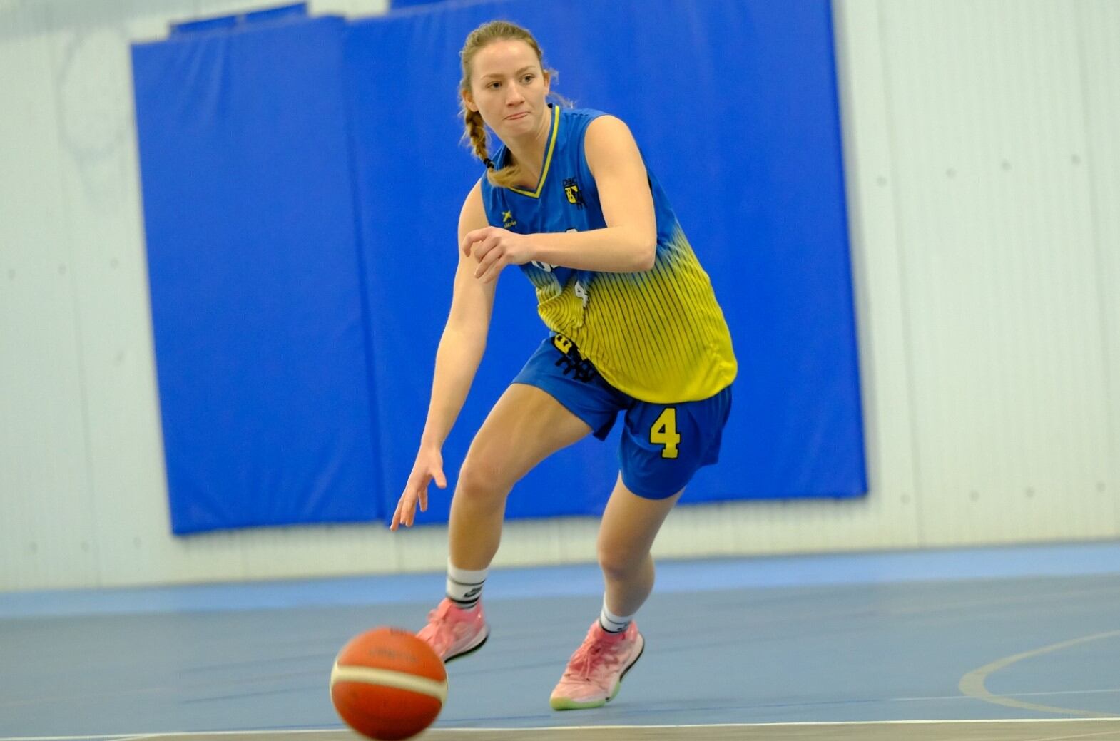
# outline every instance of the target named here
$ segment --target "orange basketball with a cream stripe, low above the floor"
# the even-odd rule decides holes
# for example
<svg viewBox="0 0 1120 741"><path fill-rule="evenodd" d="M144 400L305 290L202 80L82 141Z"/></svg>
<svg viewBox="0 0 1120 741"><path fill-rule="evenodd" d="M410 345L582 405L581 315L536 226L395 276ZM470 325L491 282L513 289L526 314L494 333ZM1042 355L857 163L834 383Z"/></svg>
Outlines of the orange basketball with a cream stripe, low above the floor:
<svg viewBox="0 0 1120 741"><path fill-rule="evenodd" d="M330 700L346 724L379 741L408 739L439 715L447 670L436 651L400 628L375 628L343 646Z"/></svg>

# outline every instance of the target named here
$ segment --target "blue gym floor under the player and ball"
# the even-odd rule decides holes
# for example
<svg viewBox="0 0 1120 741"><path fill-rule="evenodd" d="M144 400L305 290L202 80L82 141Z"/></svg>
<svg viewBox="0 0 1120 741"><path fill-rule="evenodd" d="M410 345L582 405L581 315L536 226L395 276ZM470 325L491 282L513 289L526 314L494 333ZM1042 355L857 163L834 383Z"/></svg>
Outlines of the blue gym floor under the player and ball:
<svg viewBox="0 0 1120 741"><path fill-rule="evenodd" d="M662 562L657 580L638 613L646 653L618 697L559 713L549 692L598 615L598 571L492 573L492 637L448 666L428 735L579 725L612 739L787 738L760 724L790 723L810 738L810 723L1024 719L913 728L1120 739L1120 721L1100 720L1120 716L1120 544ZM419 628L442 588L432 573L2 593L0 741L346 738L327 694L335 653L374 626ZM883 738L918 738L889 728ZM559 738L516 738L545 737Z"/></svg>

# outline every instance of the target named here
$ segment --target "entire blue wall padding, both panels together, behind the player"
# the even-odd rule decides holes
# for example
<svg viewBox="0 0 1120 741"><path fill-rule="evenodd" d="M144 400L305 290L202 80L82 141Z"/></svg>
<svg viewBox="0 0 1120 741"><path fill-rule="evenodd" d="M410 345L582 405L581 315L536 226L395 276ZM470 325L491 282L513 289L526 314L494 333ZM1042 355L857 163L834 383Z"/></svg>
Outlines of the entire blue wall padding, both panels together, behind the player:
<svg viewBox="0 0 1120 741"><path fill-rule="evenodd" d="M721 462L684 501L866 491L830 8L440 3L139 45L133 64L176 532L384 519L423 426L456 218L458 49L531 28L556 90L623 118L711 274L739 358ZM545 330L517 270L445 465ZM617 431L545 461L511 517L596 514ZM444 522L432 490L419 522Z"/></svg>

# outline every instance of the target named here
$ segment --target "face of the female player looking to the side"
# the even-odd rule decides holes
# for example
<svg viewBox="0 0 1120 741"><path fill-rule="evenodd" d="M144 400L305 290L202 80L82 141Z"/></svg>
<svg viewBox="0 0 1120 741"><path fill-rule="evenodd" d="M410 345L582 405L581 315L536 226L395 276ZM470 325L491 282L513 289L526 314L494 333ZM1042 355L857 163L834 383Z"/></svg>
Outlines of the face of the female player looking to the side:
<svg viewBox="0 0 1120 741"><path fill-rule="evenodd" d="M482 113L500 139L534 133L544 125L548 75L532 47L521 40L487 44L472 63L467 106Z"/></svg>

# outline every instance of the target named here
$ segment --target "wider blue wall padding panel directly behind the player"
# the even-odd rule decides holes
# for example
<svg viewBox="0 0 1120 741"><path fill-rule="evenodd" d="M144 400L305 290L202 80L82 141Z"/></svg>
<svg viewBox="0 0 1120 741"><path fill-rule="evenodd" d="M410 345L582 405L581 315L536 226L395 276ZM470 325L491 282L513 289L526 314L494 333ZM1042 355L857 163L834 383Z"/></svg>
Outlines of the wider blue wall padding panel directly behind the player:
<svg viewBox="0 0 1120 741"><path fill-rule="evenodd" d="M558 92L629 123L712 276L740 375L721 462L685 501L867 490L827 0L446 3L354 22L347 72L386 510L423 428L456 261L456 218L482 167L458 144L457 51L495 17L531 28ZM491 343L445 450L474 431L544 328L528 280L503 275ZM545 461L510 517L595 514L617 429ZM452 479L454 480L454 479ZM447 517L431 499L424 522Z"/></svg>

